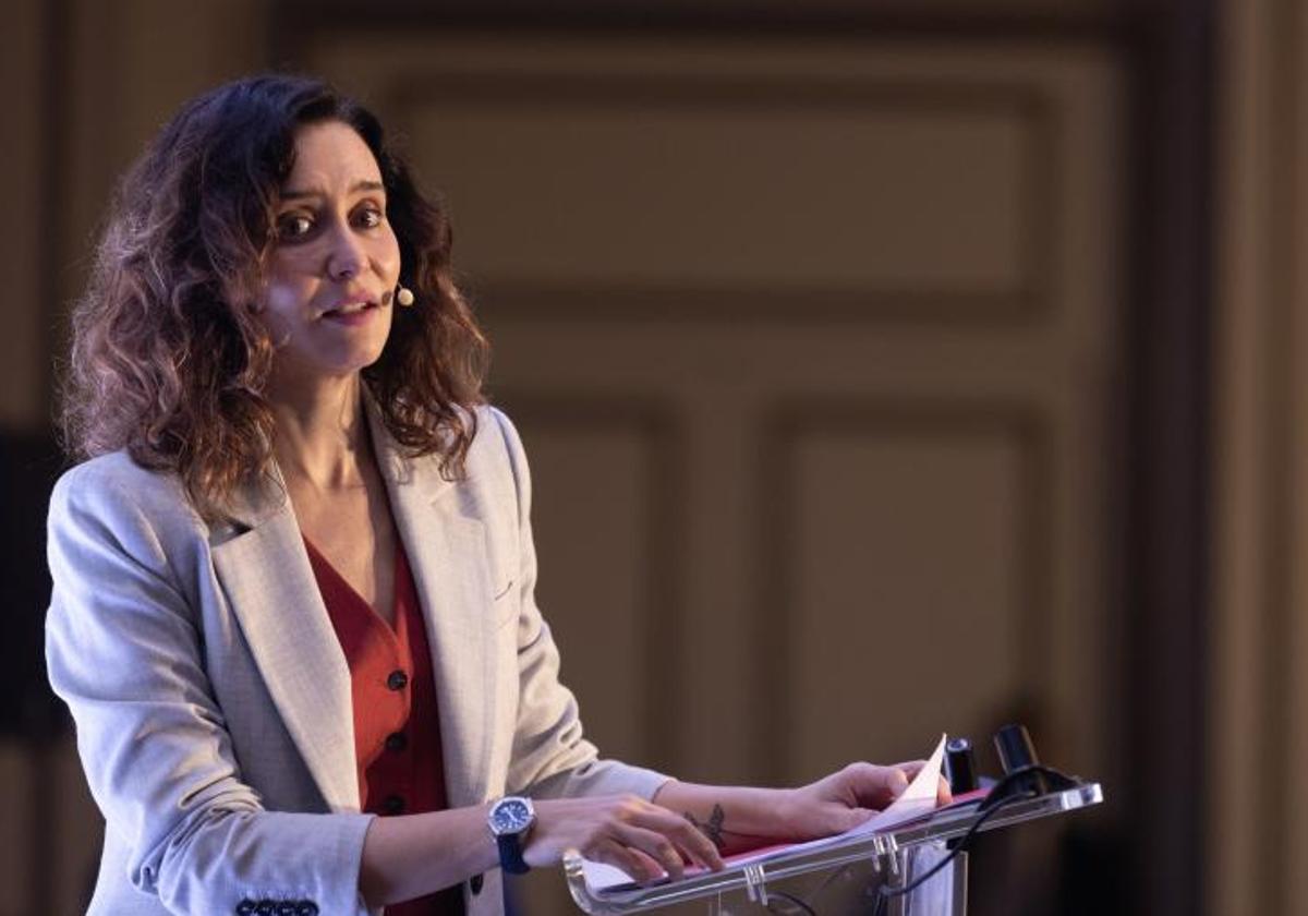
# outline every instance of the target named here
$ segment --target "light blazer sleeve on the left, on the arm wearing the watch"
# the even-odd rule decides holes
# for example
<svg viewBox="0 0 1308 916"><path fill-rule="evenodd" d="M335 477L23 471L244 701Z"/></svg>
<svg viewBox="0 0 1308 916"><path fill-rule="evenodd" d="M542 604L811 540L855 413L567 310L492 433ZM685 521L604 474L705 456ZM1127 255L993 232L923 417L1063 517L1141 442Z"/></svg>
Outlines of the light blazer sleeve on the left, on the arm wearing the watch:
<svg viewBox="0 0 1308 916"><path fill-rule="evenodd" d="M263 912L266 900L276 912L290 902L288 912L366 913L370 815L267 811L242 783L175 569L190 557L166 546L187 526L204 544L199 521L181 522L177 506L146 512L148 487L95 463L51 497L46 654L106 830L132 851L131 883L177 913Z"/></svg>

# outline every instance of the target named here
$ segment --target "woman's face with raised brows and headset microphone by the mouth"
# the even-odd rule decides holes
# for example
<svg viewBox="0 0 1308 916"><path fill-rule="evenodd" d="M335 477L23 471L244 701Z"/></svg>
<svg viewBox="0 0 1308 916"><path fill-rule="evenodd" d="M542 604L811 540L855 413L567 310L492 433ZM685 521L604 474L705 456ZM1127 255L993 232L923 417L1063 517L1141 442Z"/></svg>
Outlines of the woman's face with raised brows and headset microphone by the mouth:
<svg viewBox="0 0 1308 916"><path fill-rule="evenodd" d="M345 377L377 361L391 330L400 249L368 144L348 124L307 124L281 188L260 313L284 382Z"/></svg>

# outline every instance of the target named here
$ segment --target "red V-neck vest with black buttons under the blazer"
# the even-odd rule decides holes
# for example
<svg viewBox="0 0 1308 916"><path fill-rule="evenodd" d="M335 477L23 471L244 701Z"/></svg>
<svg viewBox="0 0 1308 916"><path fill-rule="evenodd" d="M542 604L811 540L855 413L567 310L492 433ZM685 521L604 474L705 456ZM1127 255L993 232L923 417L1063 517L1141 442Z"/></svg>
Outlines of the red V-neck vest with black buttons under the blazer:
<svg viewBox="0 0 1308 916"><path fill-rule="evenodd" d="M404 544L395 539L394 628L307 538L305 544L336 639L349 663L360 806L381 817L445 809L445 766L432 653ZM460 885L386 907L386 916L462 913Z"/></svg>

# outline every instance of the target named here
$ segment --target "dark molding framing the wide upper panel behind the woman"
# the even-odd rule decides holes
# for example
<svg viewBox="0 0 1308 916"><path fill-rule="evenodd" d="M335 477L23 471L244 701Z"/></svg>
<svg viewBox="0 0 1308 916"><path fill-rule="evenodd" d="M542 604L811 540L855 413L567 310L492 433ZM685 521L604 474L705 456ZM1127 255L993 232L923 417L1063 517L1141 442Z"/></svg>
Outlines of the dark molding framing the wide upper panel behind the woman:
<svg viewBox="0 0 1308 916"><path fill-rule="evenodd" d="M896 325L1031 325L1052 318L1058 297L1056 266L1062 236L1059 200L1066 181L1058 169L1057 101L1036 80L951 81L950 79L857 79L818 76L768 79L722 73L641 76L596 69L589 73L481 68L403 71L385 81L378 107L413 126L430 109L477 113L532 110L602 120L606 113L825 113L840 118L935 118L940 123L989 119L1020 131L1020 174L1014 208L1020 213L1016 245L1019 276L1011 285L811 285L804 283L714 285L634 283L504 281L473 284L492 318L519 318L548 310L561 318L647 321L838 321ZM961 166L963 164L960 164ZM909 216L909 215L904 215Z"/></svg>

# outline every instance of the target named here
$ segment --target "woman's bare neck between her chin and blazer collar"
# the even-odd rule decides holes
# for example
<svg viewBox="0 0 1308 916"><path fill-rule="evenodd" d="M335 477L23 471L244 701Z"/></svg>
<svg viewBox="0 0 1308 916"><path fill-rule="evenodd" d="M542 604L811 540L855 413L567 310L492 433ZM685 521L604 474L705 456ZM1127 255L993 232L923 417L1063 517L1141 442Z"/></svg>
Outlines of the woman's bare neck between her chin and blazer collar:
<svg viewBox="0 0 1308 916"><path fill-rule="evenodd" d="M362 485L369 444L357 374L276 386L269 402L277 419L273 454L283 475L319 491Z"/></svg>

